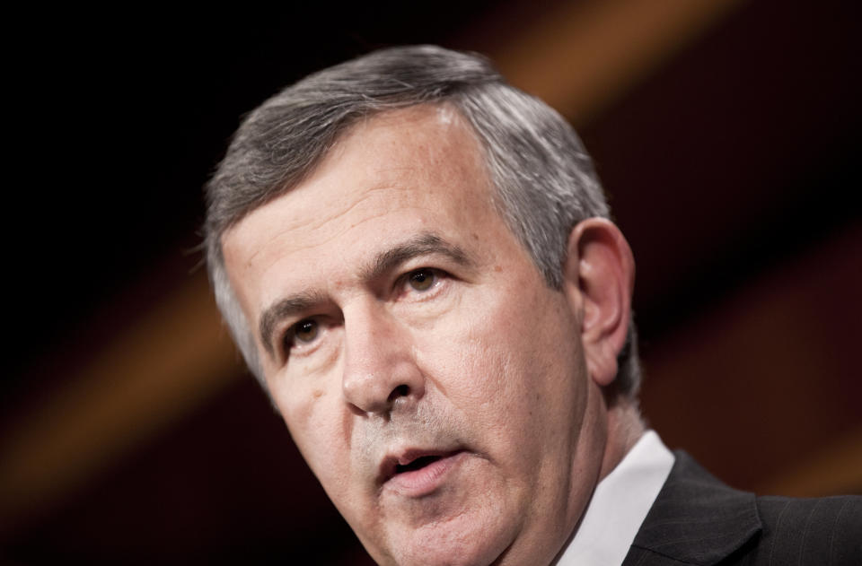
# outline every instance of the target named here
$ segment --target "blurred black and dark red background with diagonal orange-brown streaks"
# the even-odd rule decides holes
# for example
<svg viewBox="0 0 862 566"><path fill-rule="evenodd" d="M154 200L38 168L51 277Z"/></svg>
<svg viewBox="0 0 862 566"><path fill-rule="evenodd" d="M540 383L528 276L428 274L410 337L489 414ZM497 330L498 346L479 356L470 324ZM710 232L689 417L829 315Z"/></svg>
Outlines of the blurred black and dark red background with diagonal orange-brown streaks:
<svg viewBox="0 0 862 566"><path fill-rule="evenodd" d="M744 489L862 493L859 12L15 14L0 561L367 561L221 327L198 226L244 112L404 43L492 57L582 134L638 261L642 408L665 443Z"/></svg>

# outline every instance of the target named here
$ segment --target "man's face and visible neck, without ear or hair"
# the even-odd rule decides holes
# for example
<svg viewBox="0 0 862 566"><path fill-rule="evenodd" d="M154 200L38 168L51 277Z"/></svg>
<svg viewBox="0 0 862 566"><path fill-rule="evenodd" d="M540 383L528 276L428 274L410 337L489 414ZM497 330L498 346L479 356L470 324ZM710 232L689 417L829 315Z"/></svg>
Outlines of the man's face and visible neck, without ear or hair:
<svg viewBox="0 0 862 566"><path fill-rule="evenodd" d="M415 107L224 237L277 407L378 562L550 562L599 475L577 292L490 191L462 118Z"/></svg>

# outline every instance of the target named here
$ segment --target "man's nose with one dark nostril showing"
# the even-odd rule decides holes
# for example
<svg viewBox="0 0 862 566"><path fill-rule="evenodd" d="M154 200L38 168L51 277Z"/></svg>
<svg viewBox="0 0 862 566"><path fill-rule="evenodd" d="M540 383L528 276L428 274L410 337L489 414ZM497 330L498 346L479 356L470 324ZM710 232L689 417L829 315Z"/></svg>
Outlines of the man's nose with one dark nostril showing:
<svg viewBox="0 0 862 566"><path fill-rule="evenodd" d="M345 313L341 388L347 403L365 414L389 414L425 394L409 333L379 309Z"/></svg>

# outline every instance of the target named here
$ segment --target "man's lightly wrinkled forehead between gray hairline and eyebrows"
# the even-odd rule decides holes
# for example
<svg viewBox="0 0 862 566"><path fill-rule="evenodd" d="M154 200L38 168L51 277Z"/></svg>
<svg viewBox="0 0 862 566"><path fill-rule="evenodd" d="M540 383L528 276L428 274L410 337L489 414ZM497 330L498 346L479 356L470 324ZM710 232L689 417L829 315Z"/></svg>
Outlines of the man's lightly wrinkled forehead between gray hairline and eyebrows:
<svg viewBox="0 0 862 566"><path fill-rule="evenodd" d="M353 126L309 179L226 232L225 261L253 312L273 298L261 285L277 267L296 281L418 232L478 240L500 230L491 195L481 145L456 110L393 110Z"/></svg>

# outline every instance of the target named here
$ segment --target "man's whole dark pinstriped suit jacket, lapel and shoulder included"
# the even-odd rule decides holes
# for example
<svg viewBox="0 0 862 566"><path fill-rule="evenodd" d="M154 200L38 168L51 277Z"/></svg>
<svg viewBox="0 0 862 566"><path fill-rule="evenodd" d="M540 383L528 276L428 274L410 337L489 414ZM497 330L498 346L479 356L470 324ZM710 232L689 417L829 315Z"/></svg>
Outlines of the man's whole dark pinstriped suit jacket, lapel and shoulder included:
<svg viewBox="0 0 862 566"><path fill-rule="evenodd" d="M862 497L755 497L675 454L623 566L862 566Z"/></svg>

